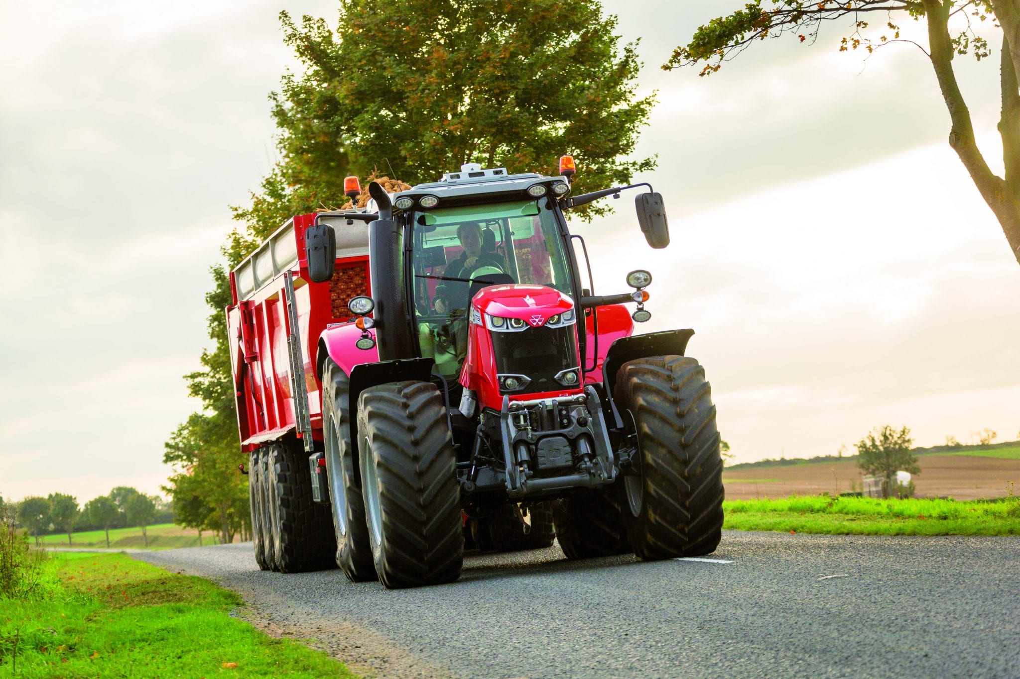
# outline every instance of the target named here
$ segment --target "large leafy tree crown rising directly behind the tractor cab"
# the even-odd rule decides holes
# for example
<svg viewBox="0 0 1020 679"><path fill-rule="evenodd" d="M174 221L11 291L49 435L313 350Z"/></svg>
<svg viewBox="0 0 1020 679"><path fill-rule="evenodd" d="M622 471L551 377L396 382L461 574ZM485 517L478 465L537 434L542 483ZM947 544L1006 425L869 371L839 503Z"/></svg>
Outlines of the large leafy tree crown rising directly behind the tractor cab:
<svg viewBox="0 0 1020 679"><path fill-rule="evenodd" d="M237 210L261 237L375 168L411 184L468 162L556 174L573 153L580 192L655 167L629 159L654 103L635 96L636 44L598 3L341 0L335 30L279 16L305 71L270 95L282 160Z"/></svg>

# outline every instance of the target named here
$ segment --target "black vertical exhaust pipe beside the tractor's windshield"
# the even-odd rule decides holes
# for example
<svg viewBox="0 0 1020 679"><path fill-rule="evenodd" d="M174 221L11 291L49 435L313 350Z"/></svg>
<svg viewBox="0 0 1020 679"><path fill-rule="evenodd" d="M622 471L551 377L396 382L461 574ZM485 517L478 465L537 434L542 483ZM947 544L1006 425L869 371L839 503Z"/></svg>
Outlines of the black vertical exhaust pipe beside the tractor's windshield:
<svg viewBox="0 0 1020 679"><path fill-rule="evenodd" d="M368 194L378 207L378 219L368 223L368 262L379 360L414 358L404 287L404 233L393 220L393 205L386 189L373 181L368 184Z"/></svg>

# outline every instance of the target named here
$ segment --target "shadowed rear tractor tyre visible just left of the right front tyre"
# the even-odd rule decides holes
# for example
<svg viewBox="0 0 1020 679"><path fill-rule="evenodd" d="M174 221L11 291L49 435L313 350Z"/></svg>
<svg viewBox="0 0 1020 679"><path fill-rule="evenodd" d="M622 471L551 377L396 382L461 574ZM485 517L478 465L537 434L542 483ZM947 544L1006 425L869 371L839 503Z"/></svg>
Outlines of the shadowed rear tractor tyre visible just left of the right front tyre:
<svg viewBox="0 0 1020 679"><path fill-rule="evenodd" d="M567 559L592 559L630 552L617 494L611 489L553 503L556 540Z"/></svg>

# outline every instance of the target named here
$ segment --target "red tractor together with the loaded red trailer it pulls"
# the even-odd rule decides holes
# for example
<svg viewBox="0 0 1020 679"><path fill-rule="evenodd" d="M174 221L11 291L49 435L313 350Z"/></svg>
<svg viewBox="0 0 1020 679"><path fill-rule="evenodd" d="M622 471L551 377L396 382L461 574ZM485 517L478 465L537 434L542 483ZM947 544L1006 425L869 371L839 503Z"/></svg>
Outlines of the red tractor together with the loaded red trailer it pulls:
<svg viewBox="0 0 1020 679"><path fill-rule="evenodd" d="M665 247L662 197L649 184L571 196L573 161L560 165L465 165L396 193L372 182L364 209L295 217L232 272L261 568L336 561L406 587L457 579L465 546L715 550L720 440L684 355L694 331L631 336L651 274L593 294L565 219L644 186L639 223Z"/></svg>

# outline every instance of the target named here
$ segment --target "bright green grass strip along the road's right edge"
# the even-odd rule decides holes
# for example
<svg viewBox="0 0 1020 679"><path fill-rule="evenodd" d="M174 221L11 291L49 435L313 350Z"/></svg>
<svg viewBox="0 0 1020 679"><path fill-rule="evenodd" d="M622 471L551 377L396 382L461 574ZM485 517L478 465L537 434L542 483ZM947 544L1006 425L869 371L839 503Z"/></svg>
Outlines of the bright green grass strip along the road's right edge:
<svg viewBox="0 0 1020 679"><path fill-rule="evenodd" d="M723 503L724 528L861 535L1020 535L1020 498L1002 502L789 497Z"/></svg>

